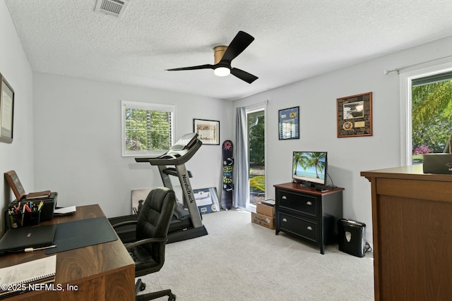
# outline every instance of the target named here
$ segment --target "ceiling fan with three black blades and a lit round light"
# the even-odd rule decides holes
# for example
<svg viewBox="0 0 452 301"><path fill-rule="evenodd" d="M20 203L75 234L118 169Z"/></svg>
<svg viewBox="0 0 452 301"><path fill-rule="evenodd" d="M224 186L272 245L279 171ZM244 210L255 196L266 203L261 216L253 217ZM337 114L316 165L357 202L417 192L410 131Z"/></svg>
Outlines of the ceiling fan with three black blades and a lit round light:
<svg viewBox="0 0 452 301"><path fill-rule="evenodd" d="M183 68L167 69L167 71L179 71L179 70L197 70L197 69L213 69L213 73L218 76L226 76L229 74L244 80L251 84L258 77L247 73L244 70L231 67L231 61L235 59L239 54L246 49L246 47L254 41L254 37L246 32L239 31L237 35L232 39L229 46L217 46L213 48L214 64L206 64L200 66L191 66Z"/></svg>

